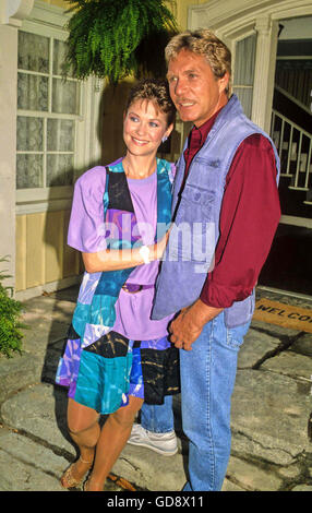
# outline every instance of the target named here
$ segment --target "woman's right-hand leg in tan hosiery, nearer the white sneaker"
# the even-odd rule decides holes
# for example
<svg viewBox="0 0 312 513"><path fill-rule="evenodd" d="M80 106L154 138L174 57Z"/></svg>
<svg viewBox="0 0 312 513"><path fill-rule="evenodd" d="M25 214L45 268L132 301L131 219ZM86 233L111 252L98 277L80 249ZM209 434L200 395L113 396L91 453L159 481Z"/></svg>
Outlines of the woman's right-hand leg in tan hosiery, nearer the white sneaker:
<svg viewBox="0 0 312 513"><path fill-rule="evenodd" d="M103 491L107 475L130 437L142 404L142 399L129 396L129 405L119 408L106 420L96 445L95 463L86 487L88 491Z"/></svg>

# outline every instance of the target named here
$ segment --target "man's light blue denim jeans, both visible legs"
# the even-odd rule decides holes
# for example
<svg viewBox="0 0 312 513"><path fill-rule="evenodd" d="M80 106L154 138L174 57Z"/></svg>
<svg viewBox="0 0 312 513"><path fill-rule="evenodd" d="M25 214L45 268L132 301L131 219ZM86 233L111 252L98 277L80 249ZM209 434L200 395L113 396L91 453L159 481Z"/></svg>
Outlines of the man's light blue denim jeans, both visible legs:
<svg viewBox="0 0 312 513"><path fill-rule="evenodd" d="M182 427L189 438L189 480L183 491L221 489L230 456L237 357L249 326L250 322L226 327L221 312L204 326L192 350L180 350ZM163 423L171 418L168 404L145 405L144 416L149 431L157 427L159 432L160 425L170 427Z"/></svg>

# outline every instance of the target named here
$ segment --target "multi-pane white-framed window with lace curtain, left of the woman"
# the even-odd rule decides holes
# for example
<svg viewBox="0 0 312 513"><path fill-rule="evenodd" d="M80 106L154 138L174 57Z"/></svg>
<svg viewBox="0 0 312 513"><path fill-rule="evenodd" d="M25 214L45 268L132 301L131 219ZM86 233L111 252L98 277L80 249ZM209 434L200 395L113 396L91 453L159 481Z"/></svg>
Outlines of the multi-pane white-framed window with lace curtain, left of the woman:
<svg viewBox="0 0 312 513"><path fill-rule="evenodd" d="M73 183L81 84L63 80L64 55L63 40L19 31L16 189Z"/></svg>

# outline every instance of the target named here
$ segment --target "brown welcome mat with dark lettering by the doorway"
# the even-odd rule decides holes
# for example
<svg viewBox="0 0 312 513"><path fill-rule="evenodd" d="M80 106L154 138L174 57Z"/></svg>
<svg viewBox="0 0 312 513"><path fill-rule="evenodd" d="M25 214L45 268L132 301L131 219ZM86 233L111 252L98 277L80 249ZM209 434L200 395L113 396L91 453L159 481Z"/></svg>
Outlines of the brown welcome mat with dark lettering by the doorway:
<svg viewBox="0 0 312 513"><path fill-rule="evenodd" d="M253 319L312 333L312 309L293 307L263 298L255 303Z"/></svg>

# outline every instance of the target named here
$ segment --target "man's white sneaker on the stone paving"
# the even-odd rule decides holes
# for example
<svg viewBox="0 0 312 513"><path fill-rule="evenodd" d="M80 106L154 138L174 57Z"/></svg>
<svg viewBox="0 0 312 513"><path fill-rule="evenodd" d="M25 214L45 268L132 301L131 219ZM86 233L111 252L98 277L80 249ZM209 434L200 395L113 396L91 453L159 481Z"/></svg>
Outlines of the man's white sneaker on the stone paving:
<svg viewBox="0 0 312 513"><path fill-rule="evenodd" d="M142 428L141 423L134 423L128 443L152 449L163 456L173 456L178 452L177 436L175 431L167 433L153 433Z"/></svg>

